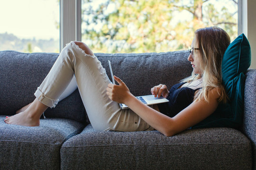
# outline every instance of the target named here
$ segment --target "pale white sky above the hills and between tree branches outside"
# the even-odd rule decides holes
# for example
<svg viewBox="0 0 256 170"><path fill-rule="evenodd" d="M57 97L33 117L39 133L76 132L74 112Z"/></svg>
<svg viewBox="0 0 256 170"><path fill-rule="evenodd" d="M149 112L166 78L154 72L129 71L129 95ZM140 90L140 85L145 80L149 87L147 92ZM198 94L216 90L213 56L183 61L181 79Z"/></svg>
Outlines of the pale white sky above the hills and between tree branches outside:
<svg viewBox="0 0 256 170"><path fill-rule="evenodd" d="M230 2L230 0L209 1L215 1L217 7L219 4L223 5L224 1ZM100 3L101 0L93 1L95 8ZM0 34L7 32L19 38L57 40L60 33L55 23L59 22L59 13L57 0L0 0ZM177 19L180 20L181 17L179 13Z"/></svg>

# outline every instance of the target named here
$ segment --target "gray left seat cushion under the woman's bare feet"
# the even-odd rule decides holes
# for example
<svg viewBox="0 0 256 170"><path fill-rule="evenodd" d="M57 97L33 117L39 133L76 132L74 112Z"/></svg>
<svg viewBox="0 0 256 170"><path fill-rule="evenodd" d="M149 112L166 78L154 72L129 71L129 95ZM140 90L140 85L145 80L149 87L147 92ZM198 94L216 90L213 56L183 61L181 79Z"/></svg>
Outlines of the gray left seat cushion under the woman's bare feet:
<svg viewBox="0 0 256 170"><path fill-rule="evenodd" d="M42 119L39 127L4 123L0 116L0 169L59 170L60 147L80 133L82 123L68 119Z"/></svg>

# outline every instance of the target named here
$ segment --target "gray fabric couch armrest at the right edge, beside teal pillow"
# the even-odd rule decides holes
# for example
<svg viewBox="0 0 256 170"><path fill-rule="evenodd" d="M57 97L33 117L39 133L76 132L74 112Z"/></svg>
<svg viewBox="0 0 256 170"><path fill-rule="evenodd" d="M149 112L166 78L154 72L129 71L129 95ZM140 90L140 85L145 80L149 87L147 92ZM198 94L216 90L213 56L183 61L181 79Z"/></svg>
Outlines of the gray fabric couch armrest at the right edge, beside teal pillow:
<svg viewBox="0 0 256 170"><path fill-rule="evenodd" d="M243 132L252 142L256 169L256 69L248 69L246 73L243 122Z"/></svg>

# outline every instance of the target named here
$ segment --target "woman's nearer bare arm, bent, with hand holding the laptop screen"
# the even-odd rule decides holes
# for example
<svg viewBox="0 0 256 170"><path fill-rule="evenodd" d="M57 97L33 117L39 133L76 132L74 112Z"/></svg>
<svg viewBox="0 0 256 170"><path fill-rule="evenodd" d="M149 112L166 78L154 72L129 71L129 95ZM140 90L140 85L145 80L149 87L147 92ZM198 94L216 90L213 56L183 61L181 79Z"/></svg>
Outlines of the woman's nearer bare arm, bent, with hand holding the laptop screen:
<svg viewBox="0 0 256 170"><path fill-rule="evenodd" d="M115 79L117 82L120 82L118 77L115 77ZM137 113L139 117L165 136L173 136L199 123L210 116L219 104L218 89L213 89L210 92L209 102L192 102L174 118L170 118L137 100L137 98L129 92L124 83L120 85L109 84L107 91L111 100L125 103L131 110Z"/></svg>

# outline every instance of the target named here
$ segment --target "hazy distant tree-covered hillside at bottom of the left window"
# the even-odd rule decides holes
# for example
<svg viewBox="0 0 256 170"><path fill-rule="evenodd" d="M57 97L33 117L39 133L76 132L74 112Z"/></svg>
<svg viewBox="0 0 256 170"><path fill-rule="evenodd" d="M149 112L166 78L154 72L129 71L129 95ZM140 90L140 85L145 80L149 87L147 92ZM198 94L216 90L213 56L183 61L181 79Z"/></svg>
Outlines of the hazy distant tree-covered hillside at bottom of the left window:
<svg viewBox="0 0 256 170"><path fill-rule="evenodd" d="M59 40L20 39L13 34L0 34L0 51L59 52Z"/></svg>

